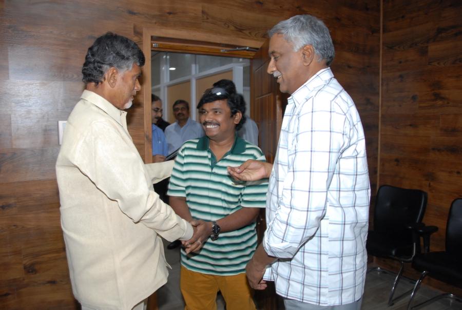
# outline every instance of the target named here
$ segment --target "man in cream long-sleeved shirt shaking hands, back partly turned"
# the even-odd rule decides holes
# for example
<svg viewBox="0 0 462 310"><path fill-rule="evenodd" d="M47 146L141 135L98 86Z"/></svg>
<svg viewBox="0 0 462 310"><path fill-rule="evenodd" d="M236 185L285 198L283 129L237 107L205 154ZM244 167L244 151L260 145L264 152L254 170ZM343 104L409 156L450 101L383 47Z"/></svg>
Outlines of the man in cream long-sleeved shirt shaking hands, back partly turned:
<svg viewBox="0 0 462 310"><path fill-rule="evenodd" d="M95 41L82 69L86 89L57 158L69 273L82 309L143 309L167 281L158 235L192 237L192 226L152 187L170 175L173 162L144 164L127 130L123 110L141 88L143 65L128 38L107 33Z"/></svg>

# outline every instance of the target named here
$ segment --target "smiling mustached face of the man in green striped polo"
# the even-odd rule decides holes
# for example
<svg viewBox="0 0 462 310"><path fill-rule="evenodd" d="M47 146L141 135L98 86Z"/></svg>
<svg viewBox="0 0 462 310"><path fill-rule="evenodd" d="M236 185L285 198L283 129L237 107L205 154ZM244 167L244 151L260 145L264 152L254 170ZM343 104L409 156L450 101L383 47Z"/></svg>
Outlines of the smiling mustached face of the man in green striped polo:
<svg viewBox="0 0 462 310"><path fill-rule="evenodd" d="M204 103L199 109L199 115L205 134L217 142L234 139L236 125L242 118L241 112L231 115L226 99Z"/></svg>

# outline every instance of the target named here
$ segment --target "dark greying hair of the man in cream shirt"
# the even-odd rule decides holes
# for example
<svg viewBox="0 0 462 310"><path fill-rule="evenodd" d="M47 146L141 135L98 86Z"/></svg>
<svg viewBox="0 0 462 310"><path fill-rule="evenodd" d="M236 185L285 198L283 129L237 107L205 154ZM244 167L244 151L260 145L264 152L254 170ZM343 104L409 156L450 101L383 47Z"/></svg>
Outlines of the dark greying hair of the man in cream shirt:
<svg viewBox="0 0 462 310"><path fill-rule="evenodd" d="M142 67L144 62L143 51L136 43L125 36L107 32L88 48L82 67L82 81L99 84L111 67L125 71L131 70L133 64Z"/></svg>

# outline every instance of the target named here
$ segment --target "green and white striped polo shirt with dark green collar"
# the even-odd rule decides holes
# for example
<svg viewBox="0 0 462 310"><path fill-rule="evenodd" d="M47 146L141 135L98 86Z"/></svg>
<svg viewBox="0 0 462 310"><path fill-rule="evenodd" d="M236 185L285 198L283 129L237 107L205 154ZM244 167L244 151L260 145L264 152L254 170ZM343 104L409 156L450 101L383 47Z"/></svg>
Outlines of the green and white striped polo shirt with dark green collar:
<svg viewBox="0 0 462 310"><path fill-rule="evenodd" d="M227 166L239 166L248 159L265 161L255 145L236 136L233 147L220 161L208 147L208 138L186 141L178 152L168 186L169 196L186 197L195 219L216 221L241 207L264 208L267 179L238 182L227 173ZM197 254L181 250L181 264L195 272L230 276L245 272L245 265L257 247L255 223L210 239Z"/></svg>

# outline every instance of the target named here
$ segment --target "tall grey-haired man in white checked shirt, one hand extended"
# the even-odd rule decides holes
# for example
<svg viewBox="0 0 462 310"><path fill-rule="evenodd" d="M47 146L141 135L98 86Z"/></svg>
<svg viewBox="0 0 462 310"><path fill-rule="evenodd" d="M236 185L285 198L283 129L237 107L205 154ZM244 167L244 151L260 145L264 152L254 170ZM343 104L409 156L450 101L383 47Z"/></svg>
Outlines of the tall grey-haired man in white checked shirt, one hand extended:
<svg viewBox="0 0 462 310"><path fill-rule="evenodd" d="M318 18L293 16L269 37L268 73L291 94L275 163L228 167L235 179L270 178L248 282L275 281L286 309L360 309L370 185L358 111L329 67L334 46Z"/></svg>

